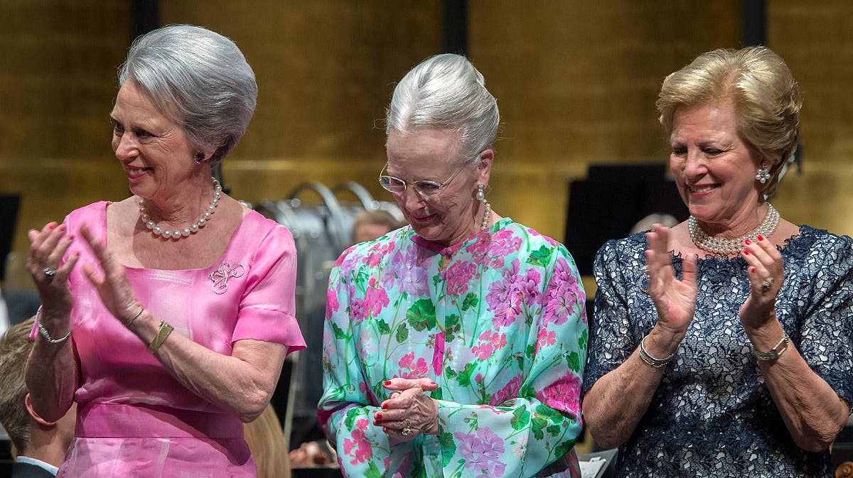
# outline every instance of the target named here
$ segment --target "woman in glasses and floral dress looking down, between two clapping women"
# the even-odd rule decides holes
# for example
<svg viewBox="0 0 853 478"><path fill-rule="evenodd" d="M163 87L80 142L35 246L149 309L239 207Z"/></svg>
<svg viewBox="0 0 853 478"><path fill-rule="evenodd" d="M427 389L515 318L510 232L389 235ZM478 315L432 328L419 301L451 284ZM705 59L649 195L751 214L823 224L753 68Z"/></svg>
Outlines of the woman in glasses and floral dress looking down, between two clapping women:
<svg viewBox="0 0 853 478"><path fill-rule="evenodd" d="M409 226L329 279L319 415L344 475L579 476L583 286L563 245L485 199L495 98L433 56L386 121L379 181Z"/></svg>

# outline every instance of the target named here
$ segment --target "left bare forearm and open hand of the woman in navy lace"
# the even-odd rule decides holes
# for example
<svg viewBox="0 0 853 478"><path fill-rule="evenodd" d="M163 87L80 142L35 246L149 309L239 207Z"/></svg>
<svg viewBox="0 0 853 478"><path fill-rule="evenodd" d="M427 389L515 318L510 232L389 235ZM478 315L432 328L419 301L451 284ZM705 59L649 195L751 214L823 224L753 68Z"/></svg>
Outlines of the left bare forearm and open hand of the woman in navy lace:
<svg viewBox="0 0 853 478"><path fill-rule="evenodd" d="M658 323L646 338L646 350L664 359L682 342L696 305L696 260L683 262L682 280L672 271L669 229L659 224L646 234L648 285L658 312ZM646 413L665 367L655 368L640 359L638 351L606 373L583 397L583 418L596 443L616 447L628 441Z"/></svg>

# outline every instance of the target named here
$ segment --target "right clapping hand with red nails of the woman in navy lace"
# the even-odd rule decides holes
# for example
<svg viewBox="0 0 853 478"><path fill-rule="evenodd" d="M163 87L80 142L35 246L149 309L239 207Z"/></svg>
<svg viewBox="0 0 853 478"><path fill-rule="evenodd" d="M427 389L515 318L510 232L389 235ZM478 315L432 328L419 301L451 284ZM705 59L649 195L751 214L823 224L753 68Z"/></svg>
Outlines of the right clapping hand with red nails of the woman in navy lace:
<svg viewBox="0 0 853 478"><path fill-rule="evenodd" d="M767 238L746 240L740 256L746 261L750 294L740 306L740 322L757 329L775 320L776 295L785 281L782 255Z"/></svg>

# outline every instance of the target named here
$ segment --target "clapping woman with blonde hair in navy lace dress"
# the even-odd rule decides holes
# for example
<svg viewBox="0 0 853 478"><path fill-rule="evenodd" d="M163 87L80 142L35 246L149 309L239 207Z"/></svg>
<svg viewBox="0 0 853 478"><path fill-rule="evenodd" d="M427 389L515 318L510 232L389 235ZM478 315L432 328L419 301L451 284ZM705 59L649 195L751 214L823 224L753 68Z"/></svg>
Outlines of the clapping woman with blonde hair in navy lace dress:
<svg viewBox="0 0 853 478"><path fill-rule="evenodd" d="M763 47L699 55L658 109L688 221L595 258L583 417L617 476L834 476L853 400L853 240L768 198L802 105Z"/></svg>

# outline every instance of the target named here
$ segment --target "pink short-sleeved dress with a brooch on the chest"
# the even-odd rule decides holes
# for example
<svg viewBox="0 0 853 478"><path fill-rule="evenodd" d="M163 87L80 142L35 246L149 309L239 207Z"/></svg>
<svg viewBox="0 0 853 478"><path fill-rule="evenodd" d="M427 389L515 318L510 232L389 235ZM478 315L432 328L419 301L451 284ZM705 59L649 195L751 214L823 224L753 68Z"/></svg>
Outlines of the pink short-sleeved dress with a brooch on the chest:
<svg viewBox="0 0 853 478"><path fill-rule="evenodd" d="M65 223L77 237L85 224L105 240L106 211L106 202L90 204ZM69 281L82 385L75 394L76 439L57 476L255 476L241 421L185 389L107 312L81 267L96 258L82 240L67 256L76 250L82 256ZM154 317L219 354L231 354L241 339L281 343L288 352L305 348L294 315L293 237L257 212L242 220L208 268L126 270Z"/></svg>

